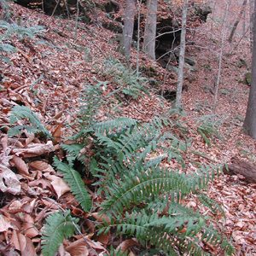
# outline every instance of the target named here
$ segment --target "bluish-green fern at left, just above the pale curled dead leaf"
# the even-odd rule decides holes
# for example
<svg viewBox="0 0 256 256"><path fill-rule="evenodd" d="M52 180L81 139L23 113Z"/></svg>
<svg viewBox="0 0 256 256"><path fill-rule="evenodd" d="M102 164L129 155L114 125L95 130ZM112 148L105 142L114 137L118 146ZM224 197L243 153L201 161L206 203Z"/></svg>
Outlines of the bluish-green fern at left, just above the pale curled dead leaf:
<svg viewBox="0 0 256 256"><path fill-rule="evenodd" d="M15 125L20 120L27 120L30 125ZM44 125L41 124L38 116L33 113L30 108L27 108L25 106L15 106L14 108L12 108L9 122L11 125L15 125L15 127L9 129L9 137L14 137L24 130L29 133L43 134L46 137L51 137L49 131L44 127Z"/></svg>

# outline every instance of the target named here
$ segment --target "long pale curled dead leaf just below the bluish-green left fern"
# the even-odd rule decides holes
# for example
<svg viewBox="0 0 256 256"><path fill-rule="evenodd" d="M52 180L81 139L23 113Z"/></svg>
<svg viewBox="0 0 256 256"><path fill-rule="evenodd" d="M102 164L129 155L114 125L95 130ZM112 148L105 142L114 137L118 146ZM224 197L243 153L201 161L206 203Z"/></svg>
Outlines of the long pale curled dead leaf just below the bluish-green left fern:
<svg viewBox="0 0 256 256"><path fill-rule="evenodd" d="M23 157L35 157L41 154L48 154L55 151L54 145L51 141L46 144L41 143L31 143L28 148L15 148L13 149L14 154Z"/></svg>

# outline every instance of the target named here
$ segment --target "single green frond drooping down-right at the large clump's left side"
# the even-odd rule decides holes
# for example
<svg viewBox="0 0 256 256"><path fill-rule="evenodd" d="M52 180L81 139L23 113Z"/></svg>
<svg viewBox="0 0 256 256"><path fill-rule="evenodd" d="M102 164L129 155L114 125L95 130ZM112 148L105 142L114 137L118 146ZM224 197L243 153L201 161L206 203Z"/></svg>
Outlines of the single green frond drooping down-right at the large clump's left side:
<svg viewBox="0 0 256 256"><path fill-rule="evenodd" d="M71 166L61 162L56 157L54 159L54 165L58 171L60 171L64 180L70 186L73 195L79 201L79 204L83 208L84 212L90 212L91 200L88 191L84 187L84 182L79 175L79 172L75 171Z"/></svg>

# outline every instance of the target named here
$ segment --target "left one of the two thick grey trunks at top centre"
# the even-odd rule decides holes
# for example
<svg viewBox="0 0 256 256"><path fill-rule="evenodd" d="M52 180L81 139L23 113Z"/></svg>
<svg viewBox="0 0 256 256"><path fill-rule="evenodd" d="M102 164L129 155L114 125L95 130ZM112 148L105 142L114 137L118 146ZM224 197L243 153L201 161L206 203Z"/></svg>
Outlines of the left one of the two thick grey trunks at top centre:
<svg viewBox="0 0 256 256"><path fill-rule="evenodd" d="M131 42L134 27L134 15L136 12L136 0L126 0L125 13L124 13L124 27L123 27L123 53L126 60L130 60L131 55Z"/></svg>

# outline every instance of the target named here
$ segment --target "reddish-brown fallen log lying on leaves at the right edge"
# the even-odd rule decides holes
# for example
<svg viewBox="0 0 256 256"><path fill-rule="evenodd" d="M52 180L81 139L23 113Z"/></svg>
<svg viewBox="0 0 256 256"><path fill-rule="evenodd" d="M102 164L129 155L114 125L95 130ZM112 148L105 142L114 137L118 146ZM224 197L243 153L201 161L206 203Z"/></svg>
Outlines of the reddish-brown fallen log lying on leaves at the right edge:
<svg viewBox="0 0 256 256"><path fill-rule="evenodd" d="M256 183L256 167L245 160L232 158L231 164L228 165L228 168L224 167L223 171L224 174L229 175L241 174L247 183Z"/></svg>

